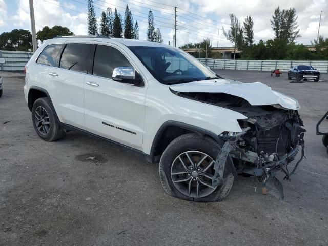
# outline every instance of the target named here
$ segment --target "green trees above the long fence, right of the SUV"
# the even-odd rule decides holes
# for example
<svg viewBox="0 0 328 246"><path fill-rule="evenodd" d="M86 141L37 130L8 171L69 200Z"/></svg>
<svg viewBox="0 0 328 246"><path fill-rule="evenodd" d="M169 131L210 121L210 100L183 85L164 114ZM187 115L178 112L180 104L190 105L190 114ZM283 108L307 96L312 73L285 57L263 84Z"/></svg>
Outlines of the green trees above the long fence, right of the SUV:
<svg viewBox="0 0 328 246"><path fill-rule="evenodd" d="M303 44L296 44L295 40L300 37L300 29L297 24L297 15L295 8L275 9L270 20L271 28L274 32L274 38L267 41L260 40L257 44L254 42L254 20L252 16L247 16L243 23L234 14L230 14L230 28L223 34L230 40L235 49L241 51L241 59L259 59L259 60L327 60L328 59L328 38L320 36L318 40L311 42L315 46L315 51L311 52ZM182 49L201 47L202 51L193 55L205 57L204 46L208 47L207 57L221 58L221 55L211 52L212 45L210 39L204 39L202 42L189 43L183 45Z"/></svg>

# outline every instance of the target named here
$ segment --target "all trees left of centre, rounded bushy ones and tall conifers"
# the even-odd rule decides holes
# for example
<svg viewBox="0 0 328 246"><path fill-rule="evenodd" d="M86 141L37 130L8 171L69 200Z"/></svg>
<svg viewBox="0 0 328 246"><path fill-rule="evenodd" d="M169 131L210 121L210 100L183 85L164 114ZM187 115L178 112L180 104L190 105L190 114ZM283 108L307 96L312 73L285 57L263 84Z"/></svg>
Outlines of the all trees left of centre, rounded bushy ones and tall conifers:
<svg viewBox="0 0 328 246"><path fill-rule="evenodd" d="M134 23L129 6L126 6L124 20L115 8L114 13L111 8L107 8L100 15L99 29L94 11L93 1L88 0L88 34L104 35L108 37L119 37L129 39L139 39L138 22ZM74 33L67 27L45 26L36 33L36 39L40 42L54 38L56 36L70 36ZM148 12L147 40L163 43L163 38L159 28L155 28L154 15L152 10ZM0 50L28 51L32 50L32 35L29 30L13 29L10 32L0 34Z"/></svg>

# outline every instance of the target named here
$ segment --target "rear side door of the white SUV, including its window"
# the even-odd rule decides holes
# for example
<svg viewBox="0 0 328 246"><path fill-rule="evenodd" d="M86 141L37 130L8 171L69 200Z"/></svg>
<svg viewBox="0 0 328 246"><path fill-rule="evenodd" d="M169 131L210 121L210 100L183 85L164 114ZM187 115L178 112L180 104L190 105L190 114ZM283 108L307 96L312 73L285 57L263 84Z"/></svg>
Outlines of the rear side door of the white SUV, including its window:
<svg viewBox="0 0 328 246"><path fill-rule="evenodd" d="M91 44L67 43L59 67L48 73L51 99L61 122L85 129L84 80L88 72Z"/></svg>

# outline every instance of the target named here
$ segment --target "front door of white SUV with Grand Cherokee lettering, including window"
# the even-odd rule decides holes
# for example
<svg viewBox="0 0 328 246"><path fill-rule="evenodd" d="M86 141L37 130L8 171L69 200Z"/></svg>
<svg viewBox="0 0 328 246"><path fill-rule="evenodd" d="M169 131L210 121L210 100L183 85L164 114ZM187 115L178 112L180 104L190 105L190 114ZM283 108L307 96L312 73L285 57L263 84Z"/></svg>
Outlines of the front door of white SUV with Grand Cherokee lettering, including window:
<svg viewBox="0 0 328 246"><path fill-rule="evenodd" d="M115 67L133 67L123 52L115 45L95 46L93 73L84 83L86 130L141 150L147 88L112 79Z"/></svg>

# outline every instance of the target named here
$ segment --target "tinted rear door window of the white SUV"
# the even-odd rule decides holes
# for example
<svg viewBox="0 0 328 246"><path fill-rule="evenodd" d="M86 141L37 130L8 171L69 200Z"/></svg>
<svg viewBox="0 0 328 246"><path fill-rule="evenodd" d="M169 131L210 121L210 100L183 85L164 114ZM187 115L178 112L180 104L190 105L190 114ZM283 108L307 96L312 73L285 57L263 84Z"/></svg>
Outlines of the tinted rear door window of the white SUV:
<svg viewBox="0 0 328 246"><path fill-rule="evenodd" d="M87 73L90 44L67 44L60 58L60 68Z"/></svg>

